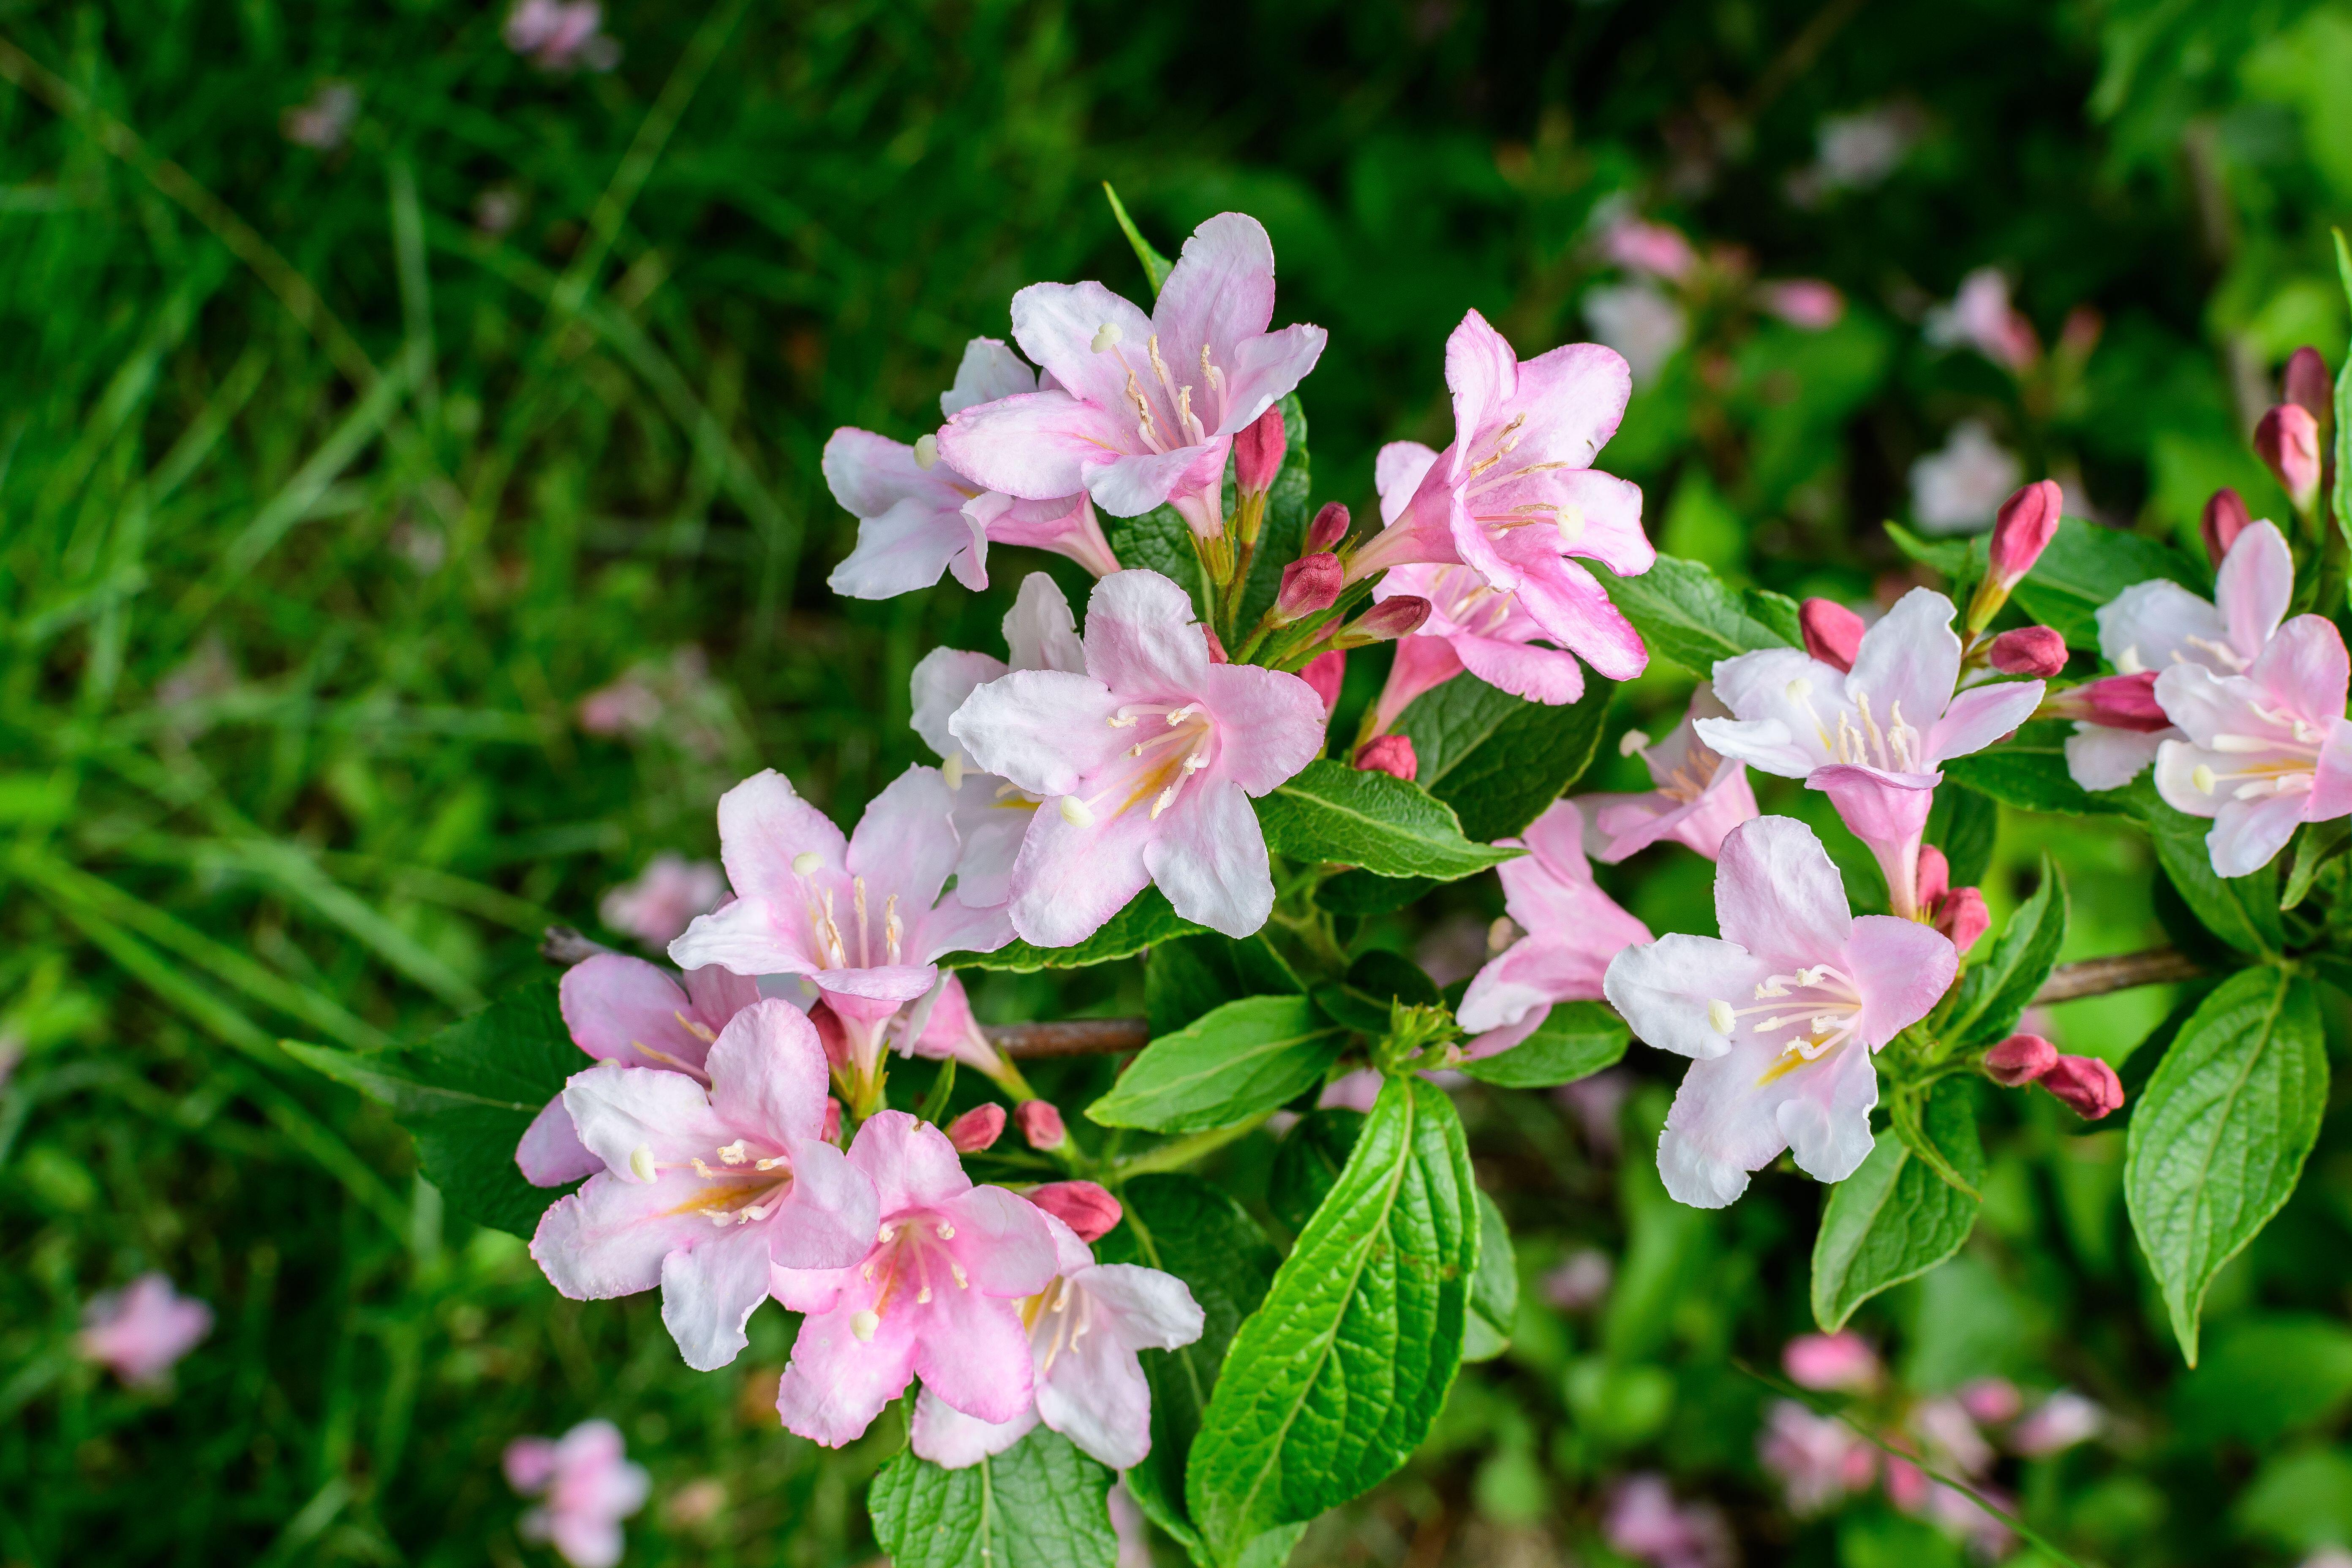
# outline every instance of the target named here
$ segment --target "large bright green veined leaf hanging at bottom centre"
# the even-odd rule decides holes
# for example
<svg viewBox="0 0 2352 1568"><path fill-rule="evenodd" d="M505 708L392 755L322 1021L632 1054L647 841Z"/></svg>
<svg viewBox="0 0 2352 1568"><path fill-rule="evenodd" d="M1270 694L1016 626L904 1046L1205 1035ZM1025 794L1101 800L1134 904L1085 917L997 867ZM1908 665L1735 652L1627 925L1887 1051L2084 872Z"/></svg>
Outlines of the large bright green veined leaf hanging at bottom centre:
<svg viewBox="0 0 2352 1568"><path fill-rule="evenodd" d="M1388 1079L1338 1185L1235 1335L1185 1472L1218 1561L1392 1474L1461 1363L1477 1187L1442 1091Z"/></svg>

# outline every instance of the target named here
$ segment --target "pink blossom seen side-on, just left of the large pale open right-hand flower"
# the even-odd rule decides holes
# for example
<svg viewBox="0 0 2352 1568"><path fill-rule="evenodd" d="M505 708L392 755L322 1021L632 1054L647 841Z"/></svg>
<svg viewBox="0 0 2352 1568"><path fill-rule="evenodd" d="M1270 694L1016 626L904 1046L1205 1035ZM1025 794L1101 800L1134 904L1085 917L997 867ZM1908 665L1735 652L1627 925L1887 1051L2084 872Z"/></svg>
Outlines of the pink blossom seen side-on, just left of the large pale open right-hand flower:
<svg viewBox="0 0 2352 1568"><path fill-rule="evenodd" d="M1646 943L1649 926L1621 910L1592 882L1585 860L1585 818L1576 802L1552 802L1526 825L1526 849L1503 860L1503 907L1526 936L1470 978L1456 1020L1472 1034L1465 1056L1494 1056L1534 1034L1555 1001L1597 1001L1602 976L1628 943Z"/></svg>

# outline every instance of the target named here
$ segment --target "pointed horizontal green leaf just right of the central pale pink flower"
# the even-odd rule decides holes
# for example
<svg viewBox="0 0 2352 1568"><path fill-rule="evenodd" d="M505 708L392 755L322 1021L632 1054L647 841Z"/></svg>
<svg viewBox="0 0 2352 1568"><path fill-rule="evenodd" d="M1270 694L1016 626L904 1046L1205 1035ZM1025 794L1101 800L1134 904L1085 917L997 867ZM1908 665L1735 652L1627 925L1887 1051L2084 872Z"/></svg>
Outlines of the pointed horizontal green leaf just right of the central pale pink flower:
<svg viewBox="0 0 2352 1568"><path fill-rule="evenodd" d="M1381 877L1454 882L1517 851L1472 844L1454 806L1390 773L1322 757L1258 802L1265 846L1310 863L1362 865Z"/></svg>

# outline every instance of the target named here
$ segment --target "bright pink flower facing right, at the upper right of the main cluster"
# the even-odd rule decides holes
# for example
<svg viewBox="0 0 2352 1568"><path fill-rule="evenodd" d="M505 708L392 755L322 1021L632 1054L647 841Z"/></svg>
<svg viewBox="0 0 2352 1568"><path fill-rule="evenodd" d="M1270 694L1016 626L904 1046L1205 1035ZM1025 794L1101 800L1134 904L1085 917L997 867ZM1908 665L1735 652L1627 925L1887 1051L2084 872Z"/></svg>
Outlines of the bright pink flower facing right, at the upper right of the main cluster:
<svg viewBox="0 0 2352 1568"><path fill-rule="evenodd" d="M1470 567L1555 644L1632 679L1649 665L1642 637L1569 559L1588 555L1618 576L1658 559L1642 534L1642 489L1590 465L1625 416L1625 360L1569 343L1522 364L1472 310L1446 339L1446 386L1454 444L1428 458L1402 442L1381 451L1390 522L1348 562L1350 581L1421 562Z"/></svg>

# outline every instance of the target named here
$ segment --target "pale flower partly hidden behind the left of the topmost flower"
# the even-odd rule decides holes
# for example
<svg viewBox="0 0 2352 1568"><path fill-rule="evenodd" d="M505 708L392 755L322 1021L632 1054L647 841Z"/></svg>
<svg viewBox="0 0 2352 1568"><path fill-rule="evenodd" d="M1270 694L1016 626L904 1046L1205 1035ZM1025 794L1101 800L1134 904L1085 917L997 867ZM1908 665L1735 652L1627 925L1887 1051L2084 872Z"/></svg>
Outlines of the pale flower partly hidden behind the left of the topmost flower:
<svg viewBox="0 0 2352 1568"><path fill-rule="evenodd" d="M955 386L938 395L946 418L1037 393L1037 371L995 339L971 339ZM938 435L913 447L873 430L842 425L826 442L826 484L858 520L858 548L833 569L826 585L851 599L889 599L929 588L943 571L978 592L988 588L988 545L1033 545L1068 555L1105 576L1120 559L1094 520L1094 503L1068 496L1023 501L967 480L938 456Z"/></svg>

